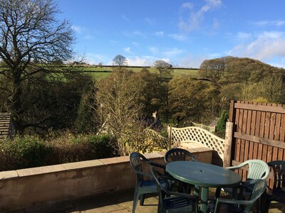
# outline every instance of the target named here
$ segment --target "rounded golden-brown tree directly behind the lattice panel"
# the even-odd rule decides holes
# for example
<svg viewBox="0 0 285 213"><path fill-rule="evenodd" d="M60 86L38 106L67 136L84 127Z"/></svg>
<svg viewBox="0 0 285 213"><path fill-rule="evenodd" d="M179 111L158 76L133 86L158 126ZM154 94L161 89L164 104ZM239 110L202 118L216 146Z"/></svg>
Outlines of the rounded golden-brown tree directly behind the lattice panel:
<svg viewBox="0 0 285 213"><path fill-rule="evenodd" d="M218 111L218 87L212 82L190 77L170 81L170 110L177 124L210 119ZM207 112L210 112L209 114Z"/></svg>

